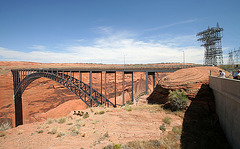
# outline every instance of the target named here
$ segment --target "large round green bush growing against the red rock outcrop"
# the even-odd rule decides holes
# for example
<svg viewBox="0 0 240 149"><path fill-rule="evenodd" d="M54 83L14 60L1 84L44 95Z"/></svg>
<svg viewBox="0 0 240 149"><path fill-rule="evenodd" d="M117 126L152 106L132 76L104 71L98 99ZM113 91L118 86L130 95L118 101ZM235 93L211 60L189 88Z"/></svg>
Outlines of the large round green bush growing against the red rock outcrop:
<svg viewBox="0 0 240 149"><path fill-rule="evenodd" d="M187 108L189 100L185 92L180 90L170 91L168 97L169 106L172 111L184 110Z"/></svg>

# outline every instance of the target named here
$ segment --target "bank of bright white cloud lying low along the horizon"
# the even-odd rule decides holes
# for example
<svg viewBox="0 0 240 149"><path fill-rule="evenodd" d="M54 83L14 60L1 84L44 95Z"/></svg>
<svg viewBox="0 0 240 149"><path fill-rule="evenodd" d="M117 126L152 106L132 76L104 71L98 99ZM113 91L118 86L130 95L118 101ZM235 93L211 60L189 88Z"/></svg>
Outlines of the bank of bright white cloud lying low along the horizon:
<svg viewBox="0 0 240 149"><path fill-rule="evenodd" d="M181 39L181 41L183 40L184 38ZM41 51L41 48L31 52L21 52L0 47L0 58L2 60L35 62L122 64L125 55L126 63L137 64L183 62L182 51L184 50L186 62L202 63L204 52L202 47L178 45L178 41L174 39L169 45L166 41L141 41L127 36L127 33L121 33L95 39L88 46L68 46L64 51L58 53Z"/></svg>

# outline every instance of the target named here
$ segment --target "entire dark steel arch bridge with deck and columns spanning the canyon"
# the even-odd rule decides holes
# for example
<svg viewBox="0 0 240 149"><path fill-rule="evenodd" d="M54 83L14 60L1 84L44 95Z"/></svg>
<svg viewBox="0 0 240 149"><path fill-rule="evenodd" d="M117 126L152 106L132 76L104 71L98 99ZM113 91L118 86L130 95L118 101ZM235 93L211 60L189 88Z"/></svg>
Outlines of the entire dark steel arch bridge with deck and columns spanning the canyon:
<svg viewBox="0 0 240 149"><path fill-rule="evenodd" d="M190 66L192 67L192 66ZM31 82L34 80L44 77L54 80L61 85L65 86L76 96L78 96L87 106L99 106L104 104L105 106L116 107L116 74L118 72L122 73L123 79L123 93L122 93L122 104L118 106L123 106L124 101L124 78L125 74L132 75L132 101L133 101L133 74L134 72L145 72L146 74L146 94L148 94L148 76L153 76L153 88L155 87L155 73L156 72L174 72L181 68L141 68L141 69L83 69L83 68L30 68L30 69L12 69L13 82L14 82L14 102L15 102L15 126L23 124L22 117L22 94ZM83 82L83 73L89 73L89 85ZM92 74L99 73L101 75L101 91L98 92L92 88ZM105 75L105 93L103 95L103 73ZM107 99L107 74L115 74L115 101L114 103Z"/></svg>

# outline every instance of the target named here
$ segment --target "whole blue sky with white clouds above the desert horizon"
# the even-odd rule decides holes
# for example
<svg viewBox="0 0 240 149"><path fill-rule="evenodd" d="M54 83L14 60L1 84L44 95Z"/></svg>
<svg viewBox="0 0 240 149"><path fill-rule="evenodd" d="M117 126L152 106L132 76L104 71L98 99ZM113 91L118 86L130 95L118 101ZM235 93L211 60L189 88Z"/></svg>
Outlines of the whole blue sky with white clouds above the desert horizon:
<svg viewBox="0 0 240 149"><path fill-rule="evenodd" d="M239 0L0 0L0 61L203 63L196 34L219 22L240 47Z"/></svg>

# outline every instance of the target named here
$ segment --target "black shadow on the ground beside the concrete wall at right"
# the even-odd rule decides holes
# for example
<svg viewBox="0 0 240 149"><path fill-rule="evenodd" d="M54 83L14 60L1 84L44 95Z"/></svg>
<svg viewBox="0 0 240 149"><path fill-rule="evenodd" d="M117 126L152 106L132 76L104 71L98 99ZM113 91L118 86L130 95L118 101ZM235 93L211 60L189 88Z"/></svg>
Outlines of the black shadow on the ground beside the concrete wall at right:
<svg viewBox="0 0 240 149"><path fill-rule="evenodd" d="M201 86L185 112L180 141L182 149L231 148L220 127L208 84Z"/></svg>

